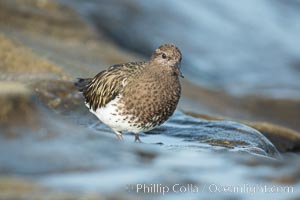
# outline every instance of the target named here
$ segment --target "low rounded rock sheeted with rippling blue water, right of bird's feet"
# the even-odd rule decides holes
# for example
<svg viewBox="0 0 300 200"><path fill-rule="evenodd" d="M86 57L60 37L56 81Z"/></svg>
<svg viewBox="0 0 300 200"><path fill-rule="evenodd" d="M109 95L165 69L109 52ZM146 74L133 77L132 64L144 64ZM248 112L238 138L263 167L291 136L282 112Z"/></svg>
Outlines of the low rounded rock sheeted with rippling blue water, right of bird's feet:
<svg viewBox="0 0 300 200"><path fill-rule="evenodd" d="M280 158L277 149L261 133L233 121L198 120L177 112L165 125L153 132L182 138L191 142L191 145L209 144L232 151L248 151Z"/></svg>

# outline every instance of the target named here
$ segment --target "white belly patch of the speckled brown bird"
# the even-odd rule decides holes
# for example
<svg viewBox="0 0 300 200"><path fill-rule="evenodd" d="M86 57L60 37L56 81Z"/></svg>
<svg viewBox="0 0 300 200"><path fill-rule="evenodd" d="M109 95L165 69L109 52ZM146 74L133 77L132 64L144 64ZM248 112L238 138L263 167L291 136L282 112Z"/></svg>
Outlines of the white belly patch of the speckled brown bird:
<svg viewBox="0 0 300 200"><path fill-rule="evenodd" d="M142 129L133 126L134 123L129 123L129 119L132 117L130 115L122 116L120 112L117 112L116 105L120 106L120 97L116 97L114 100L110 101L105 107L98 108L96 111L90 109L90 111L96 115L104 124L108 125L114 131L128 131L133 133L139 133L141 131L149 131L151 129ZM86 104L89 108L89 105Z"/></svg>

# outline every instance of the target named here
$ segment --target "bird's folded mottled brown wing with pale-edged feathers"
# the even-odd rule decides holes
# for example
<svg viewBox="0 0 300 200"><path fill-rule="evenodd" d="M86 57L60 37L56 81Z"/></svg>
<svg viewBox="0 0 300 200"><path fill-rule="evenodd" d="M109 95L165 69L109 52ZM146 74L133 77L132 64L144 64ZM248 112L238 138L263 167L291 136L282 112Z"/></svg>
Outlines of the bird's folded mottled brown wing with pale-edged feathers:
<svg viewBox="0 0 300 200"><path fill-rule="evenodd" d="M116 98L126 80L138 74L143 67L144 62L113 65L89 79L88 83L82 87L82 92L90 109L97 110Z"/></svg>

